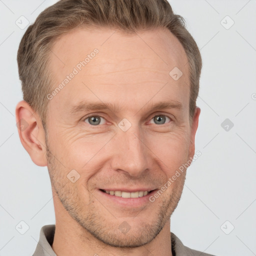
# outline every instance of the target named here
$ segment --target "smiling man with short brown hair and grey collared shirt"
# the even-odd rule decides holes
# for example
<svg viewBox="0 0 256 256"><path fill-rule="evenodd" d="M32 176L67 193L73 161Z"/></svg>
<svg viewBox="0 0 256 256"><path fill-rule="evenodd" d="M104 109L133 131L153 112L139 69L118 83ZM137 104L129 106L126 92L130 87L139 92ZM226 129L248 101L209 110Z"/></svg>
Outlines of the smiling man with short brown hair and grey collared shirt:
<svg viewBox="0 0 256 256"><path fill-rule="evenodd" d="M27 28L17 61L19 137L48 167L56 219L33 255L209 255L170 232L201 57L169 3L60 0Z"/></svg>

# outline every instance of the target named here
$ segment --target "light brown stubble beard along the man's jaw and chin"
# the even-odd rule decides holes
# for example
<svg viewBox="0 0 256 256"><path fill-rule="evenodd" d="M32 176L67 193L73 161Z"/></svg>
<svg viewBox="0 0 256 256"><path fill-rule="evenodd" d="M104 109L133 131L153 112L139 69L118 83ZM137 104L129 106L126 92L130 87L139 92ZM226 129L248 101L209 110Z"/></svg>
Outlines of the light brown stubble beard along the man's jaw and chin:
<svg viewBox="0 0 256 256"><path fill-rule="evenodd" d="M55 160L55 157L51 154L47 141L46 151L50 182L52 189L54 189L55 194L57 195L56 199L62 203L67 213L85 230L85 233L90 233L97 240L109 246L119 247L125 250L125 248L135 248L150 242L157 236L165 223L169 220L180 199L185 180L185 173L183 176L180 175L179 181L173 185L174 187L172 188L171 195L168 196L169 198L166 198L166 196L163 198L162 194L155 200L162 200L155 216L155 221L149 224L146 222L145 216L145 221L142 222L139 227L132 227L125 234L121 233L118 226L122 221L119 221L119 223L112 223L102 215L97 214L98 210L93 204L93 201L96 200L95 198L94 200L93 198L90 198L87 205L85 205L82 200L79 200L80 197L77 192L77 187L62 174L64 172L64 167L62 167L61 163L57 163L57 160ZM63 170L63 172L61 170ZM153 204L152 207L154 207ZM112 213L114 215L114 212ZM141 211L139 214L143 214L143 212ZM135 217L138 217L139 214ZM115 219L116 218L114 218L114 220ZM131 218L129 218L127 222L132 221L130 219ZM86 242L85 236L86 235L80 235L80 238L83 239L84 242Z"/></svg>

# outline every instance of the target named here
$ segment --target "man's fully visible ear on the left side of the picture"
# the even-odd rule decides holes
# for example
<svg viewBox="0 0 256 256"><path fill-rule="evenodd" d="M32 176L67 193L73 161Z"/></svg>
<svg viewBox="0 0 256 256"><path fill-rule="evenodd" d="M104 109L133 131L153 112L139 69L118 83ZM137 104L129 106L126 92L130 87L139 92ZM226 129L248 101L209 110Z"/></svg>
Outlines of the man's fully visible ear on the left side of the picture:
<svg viewBox="0 0 256 256"><path fill-rule="evenodd" d="M18 135L23 147L36 165L46 166L45 132L41 118L24 100L16 105L15 115Z"/></svg>

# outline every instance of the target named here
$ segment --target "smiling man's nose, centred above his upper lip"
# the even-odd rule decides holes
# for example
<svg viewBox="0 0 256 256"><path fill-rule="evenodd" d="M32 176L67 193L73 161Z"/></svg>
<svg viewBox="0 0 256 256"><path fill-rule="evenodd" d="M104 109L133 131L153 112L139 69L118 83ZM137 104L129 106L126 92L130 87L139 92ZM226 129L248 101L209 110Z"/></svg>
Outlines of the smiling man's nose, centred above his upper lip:
<svg viewBox="0 0 256 256"><path fill-rule="evenodd" d="M148 142L137 126L132 125L127 131L118 130L113 143L113 170L137 177L152 166Z"/></svg>

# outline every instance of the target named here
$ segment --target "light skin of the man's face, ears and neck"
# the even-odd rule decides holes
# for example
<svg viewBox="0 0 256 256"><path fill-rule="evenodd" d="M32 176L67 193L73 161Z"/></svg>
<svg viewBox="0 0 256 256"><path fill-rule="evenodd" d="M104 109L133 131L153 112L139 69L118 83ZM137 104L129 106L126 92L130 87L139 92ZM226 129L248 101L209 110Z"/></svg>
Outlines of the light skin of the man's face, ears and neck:
<svg viewBox="0 0 256 256"><path fill-rule="evenodd" d="M142 206L117 205L99 188L160 189L194 155L200 109L189 124L189 78L182 45L167 29L127 35L112 29L76 28L52 47L53 89L87 54L98 53L49 100L47 136L40 117L25 102L16 106L22 145L33 162L47 165L52 185L57 255L171 255L170 215L185 172L157 198ZM169 72L178 67L182 76ZM84 100L112 103L118 111L81 110ZM182 108L150 110L160 101ZM88 116L100 118L97 125ZM157 121L157 116L165 119ZM98 117L101 116L101 117ZM155 118L154 118L155 117ZM123 131L118 123L131 126ZM67 175L75 169L79 178ZM125 233L120 225L125 223ZM150 253L151 254L150 254Z"/></svg>

